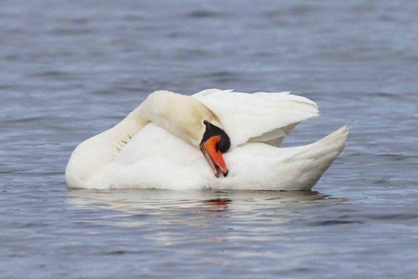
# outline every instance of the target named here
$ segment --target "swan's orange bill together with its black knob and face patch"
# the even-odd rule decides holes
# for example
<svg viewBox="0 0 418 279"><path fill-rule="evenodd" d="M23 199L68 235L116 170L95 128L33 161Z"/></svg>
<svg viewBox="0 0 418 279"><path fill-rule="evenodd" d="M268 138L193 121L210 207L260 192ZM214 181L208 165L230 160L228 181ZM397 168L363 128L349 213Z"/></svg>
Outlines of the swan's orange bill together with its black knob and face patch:
<svg viewBox="0 0 418 279"><path fill-rule="evenodd" d="M207 120L204 120L203 124L205 125L205 133L199 147L215 176L219 177L220 172L226 176L228 169L222 158L222 153L229 150L231 141L225 131L219 127Z"/></svg>

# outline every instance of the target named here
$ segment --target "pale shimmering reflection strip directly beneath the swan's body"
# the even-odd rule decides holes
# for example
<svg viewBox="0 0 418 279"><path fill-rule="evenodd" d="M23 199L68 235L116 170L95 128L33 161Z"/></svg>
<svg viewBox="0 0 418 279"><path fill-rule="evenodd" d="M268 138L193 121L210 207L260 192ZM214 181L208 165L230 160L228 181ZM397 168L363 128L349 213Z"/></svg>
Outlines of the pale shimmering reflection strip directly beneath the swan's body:
<svg viewBox="0 0 418 279"><path fill-rule="evenodd" d="M182 218L217 217L257 219L260 216L295 215L305 206L346 201L315 191L170 191L159 189L70 189L67 203L76 208L111 209L138 216L177 215ZM212 214L213 213L213 214ZM251 217L253 216L253 217Z"/></svg>

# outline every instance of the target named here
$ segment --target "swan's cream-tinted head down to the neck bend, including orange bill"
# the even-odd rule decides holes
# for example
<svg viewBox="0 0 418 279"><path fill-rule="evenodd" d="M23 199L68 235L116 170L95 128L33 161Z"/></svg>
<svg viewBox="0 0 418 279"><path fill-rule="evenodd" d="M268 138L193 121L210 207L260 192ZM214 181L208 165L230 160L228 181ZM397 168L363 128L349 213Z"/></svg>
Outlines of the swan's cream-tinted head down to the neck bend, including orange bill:
<svg viewBox="0 0 418 279"><path fill-rule="evenodd" d="M200 148L216 177L228 174L222 153L231 142L219 118L191 96L155 91L139 107L142 118Z"/></svg>

